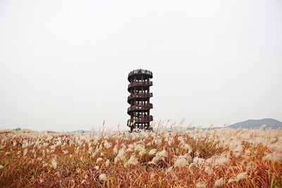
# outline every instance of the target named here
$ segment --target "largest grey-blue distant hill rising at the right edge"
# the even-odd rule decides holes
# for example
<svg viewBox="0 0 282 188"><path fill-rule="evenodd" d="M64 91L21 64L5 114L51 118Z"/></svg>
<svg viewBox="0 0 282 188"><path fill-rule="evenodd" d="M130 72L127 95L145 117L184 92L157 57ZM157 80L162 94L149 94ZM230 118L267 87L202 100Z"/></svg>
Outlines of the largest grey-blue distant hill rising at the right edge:
<svg viewBox="0 0 282 188"><path fill-rule="evenodd" d="M234 123L232 125L229 125L228 127L233 128L233 129L238 129L238 128L259 128L262 125L266 125L266 128L271 128L271 129L278 129L282 128L282 122L278 120L274 120L271 118L265 118L262 120L245 120L243 122L239 123Z"/></svg>

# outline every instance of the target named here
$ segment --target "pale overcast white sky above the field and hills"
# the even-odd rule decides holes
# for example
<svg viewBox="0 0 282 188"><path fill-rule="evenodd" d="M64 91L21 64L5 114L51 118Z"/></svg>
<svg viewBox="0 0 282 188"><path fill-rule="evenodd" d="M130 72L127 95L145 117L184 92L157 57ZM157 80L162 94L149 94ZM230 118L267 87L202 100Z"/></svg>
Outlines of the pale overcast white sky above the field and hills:
<svg viewBox="0 0 282 188"><path fill-rule="evenodd" d="M128 73L154 120L282 120L282 1L0 0L0 128L128 129Z"/></svg>

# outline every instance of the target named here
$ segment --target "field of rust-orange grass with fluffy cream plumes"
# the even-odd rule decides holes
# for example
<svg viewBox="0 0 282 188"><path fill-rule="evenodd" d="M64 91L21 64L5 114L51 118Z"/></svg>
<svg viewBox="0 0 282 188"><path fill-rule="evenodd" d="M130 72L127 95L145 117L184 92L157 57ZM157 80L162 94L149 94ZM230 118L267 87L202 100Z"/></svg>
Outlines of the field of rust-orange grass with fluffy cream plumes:
<svg viewBox="0 0 282 188"><path fill-rule="evenodd" d="M0 131L0 187L282 187L282 130Z"/></svg>

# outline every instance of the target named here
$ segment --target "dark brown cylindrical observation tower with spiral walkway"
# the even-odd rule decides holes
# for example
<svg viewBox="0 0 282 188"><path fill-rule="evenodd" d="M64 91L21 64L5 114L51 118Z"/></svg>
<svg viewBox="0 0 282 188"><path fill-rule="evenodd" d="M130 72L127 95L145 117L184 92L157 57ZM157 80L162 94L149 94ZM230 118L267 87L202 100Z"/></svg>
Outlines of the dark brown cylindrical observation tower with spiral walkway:
<svg viewBox="0 0 282 188"><path fill-rule="evenodd" d="M150 115L149 110L153 108L153 104L149 103L149 99L153 96L149 92L149 87L153 85L150 79L153 77L153 73L149 70L137 69L128 74L128 127L130 132L133 129L151 130L149 127L150 121L153 120L153 116Z"/></svg>

